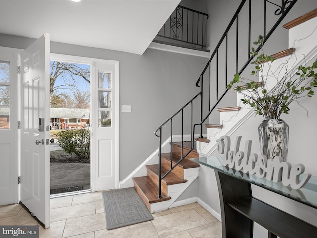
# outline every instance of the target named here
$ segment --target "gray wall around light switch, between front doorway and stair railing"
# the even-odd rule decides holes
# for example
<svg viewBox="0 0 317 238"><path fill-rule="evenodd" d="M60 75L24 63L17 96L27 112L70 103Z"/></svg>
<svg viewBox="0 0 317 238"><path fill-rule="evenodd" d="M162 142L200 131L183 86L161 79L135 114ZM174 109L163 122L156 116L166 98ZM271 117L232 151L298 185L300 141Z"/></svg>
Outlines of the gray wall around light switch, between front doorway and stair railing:
<svg viewBox="0 0 317 238"><path fill-rule="evenodd" d="M0 46L25 49L34 39L0 34ZM159 147L153 132L198 91L195 87L207 58L147 49L143 55L51 42L51 52L119 61L120 181ZM121 107L120 107L121 108Z"/></svg>

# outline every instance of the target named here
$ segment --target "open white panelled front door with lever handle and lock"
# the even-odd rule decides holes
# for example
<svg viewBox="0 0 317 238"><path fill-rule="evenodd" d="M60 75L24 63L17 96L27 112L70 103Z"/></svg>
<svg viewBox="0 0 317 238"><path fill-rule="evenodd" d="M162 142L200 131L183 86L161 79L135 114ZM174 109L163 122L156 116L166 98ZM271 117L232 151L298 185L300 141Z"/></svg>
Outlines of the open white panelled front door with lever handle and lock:
<svg viewBox="0 0 317 238"><path fill-rule="evenodd" d="M50 226L50 37L44 34L20 55L20 201Z"/></svg>

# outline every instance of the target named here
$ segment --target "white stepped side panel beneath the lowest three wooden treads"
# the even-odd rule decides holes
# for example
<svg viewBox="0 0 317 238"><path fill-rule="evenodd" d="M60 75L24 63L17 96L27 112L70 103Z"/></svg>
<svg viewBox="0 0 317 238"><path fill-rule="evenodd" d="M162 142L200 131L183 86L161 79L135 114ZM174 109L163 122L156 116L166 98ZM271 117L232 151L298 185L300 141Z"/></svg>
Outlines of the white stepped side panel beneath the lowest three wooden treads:
<svg viewBox="0 0 317 238"><path fill-rule="evenodd" d="M156 202L150 204L150 212L156 213L165 211L171 207L171 205L177 200L177 198L188 188L188 186L198 177L199 167L184 169L185 183L168 185L168 194L171 199L163 202Z"/></svg>

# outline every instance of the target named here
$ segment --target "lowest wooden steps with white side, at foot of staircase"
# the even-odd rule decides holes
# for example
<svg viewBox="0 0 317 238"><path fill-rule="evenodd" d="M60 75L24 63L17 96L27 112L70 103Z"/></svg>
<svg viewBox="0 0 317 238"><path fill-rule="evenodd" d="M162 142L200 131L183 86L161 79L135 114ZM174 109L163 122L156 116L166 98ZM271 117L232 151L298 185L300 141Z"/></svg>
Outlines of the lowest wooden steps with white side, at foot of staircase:
<svg viewBox="0 0 317 238"><path fill-rule="evenodd" d="M170 169L171 164L176 165L181 159L182 153L186 154L190 148L190 142L172 143L172 153L162 153L161 175ZM133 178L135 190L151 213L168 209L197 178L199 164L189 160L197 157L199 155L196 150L191 151L186 159L180 161L175 169L162 179L161 198L159 198L159 164L146 165L147 176Z"/></svg>

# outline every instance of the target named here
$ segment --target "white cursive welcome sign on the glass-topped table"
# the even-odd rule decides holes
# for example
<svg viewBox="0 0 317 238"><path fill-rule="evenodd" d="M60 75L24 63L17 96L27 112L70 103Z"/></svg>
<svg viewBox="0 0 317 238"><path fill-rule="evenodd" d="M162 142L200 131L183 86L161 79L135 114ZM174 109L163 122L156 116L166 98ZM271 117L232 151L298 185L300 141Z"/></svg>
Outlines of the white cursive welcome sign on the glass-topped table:
<svg viewBox="0 0 317 238"><path fill-rule="evenodd" d="M275 156L268 160L265 155L251 154L251 140L245 142L244 151L239 151L241 136L238 136L234 150L230 150L230 137L221 136L218 141L218 153L223 154L223 166L242 170L249 175L256 175L260 178L266 176L266 179L273 182L280 182L284 186L291 186L293 189L303 187L311 178L311 174L304 174L300 181L299 176L304 173L303 164L291 165L289 162L283 162L283 158Z"/></svg>

